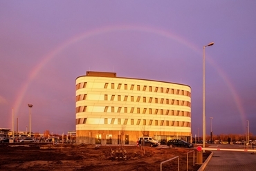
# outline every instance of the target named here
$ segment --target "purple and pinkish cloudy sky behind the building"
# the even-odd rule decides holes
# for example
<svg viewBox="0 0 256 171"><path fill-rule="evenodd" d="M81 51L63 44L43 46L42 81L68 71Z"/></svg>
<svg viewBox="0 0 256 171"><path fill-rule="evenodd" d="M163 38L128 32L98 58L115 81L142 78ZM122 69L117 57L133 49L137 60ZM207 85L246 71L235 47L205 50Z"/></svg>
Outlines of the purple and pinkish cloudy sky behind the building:
<svg viewBox="0 0 256 171"><path fill-rule="evenodd" d="M256 1L0 1L0 128L75 130L86 71L192 88L192 134L256 134ZM28 127L29 128L29 127Z"/></svg>

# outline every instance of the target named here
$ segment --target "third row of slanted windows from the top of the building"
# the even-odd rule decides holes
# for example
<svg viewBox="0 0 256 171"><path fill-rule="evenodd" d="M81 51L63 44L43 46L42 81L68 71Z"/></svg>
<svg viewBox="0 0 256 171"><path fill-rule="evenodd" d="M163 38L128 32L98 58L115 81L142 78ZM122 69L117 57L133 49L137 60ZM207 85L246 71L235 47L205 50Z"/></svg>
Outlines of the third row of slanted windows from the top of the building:
<svg viewBox="0 0 256 171"><path fill-rule="evenodd" d="M76 112L86 112L87 106L79 106L76 108ZM131 107L115 107L105 106L102 112L122 112L122 113L134 113L136 110L137 114L165 114L172 116L191 117L191 112L180 111L180 110L165 110L165 109L154 109L154 108L131 108Z"/></svg>

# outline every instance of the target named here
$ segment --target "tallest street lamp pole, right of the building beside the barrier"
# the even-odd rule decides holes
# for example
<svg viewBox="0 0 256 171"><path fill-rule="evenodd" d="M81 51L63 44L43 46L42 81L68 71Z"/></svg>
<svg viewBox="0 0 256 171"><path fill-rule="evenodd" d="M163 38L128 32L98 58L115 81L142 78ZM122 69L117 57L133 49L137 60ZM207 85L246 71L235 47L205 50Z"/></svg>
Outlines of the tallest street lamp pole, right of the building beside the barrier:
<svg viewBox="0 0 256 171"><path fill-rule="evenodd" d="M214 42L203 46L203 148L205 148L205 47L214 45ZM205 152L205 150L203 150Z"/></svg>

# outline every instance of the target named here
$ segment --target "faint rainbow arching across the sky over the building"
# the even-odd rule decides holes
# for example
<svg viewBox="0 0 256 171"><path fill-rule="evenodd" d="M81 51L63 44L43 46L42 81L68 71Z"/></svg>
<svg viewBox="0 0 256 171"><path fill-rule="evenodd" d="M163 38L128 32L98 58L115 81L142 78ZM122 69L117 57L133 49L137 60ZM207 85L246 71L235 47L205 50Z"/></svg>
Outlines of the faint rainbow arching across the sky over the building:
<svg viewBox="0 0 256 171"><path fill-rule="evenodd" d="M131 25L118 25L118 26L106 26L102 28L96 28L93 30L89 30L86 32L83 32L82 34L77 34L75 37L71 37L70 39L67 39L63 43L61 43L59 46L55 47L51 52L46 54L46 56L40 61L33 70L31 70L30 74L28 75L28 78L26 79L24 85L21 86L21 90L19 90L19 94L17 96L17 100L15 101L14 108L16 111L19 111L19 108L21 107L21 101L24 99L24 95L28 91L28 87L30 83L37 77L37 74L46 66L46 64L51 61L57 54L62 52L65 48L68 48L68 46L71 46L74 43L77 43L79 41L82 41L84 39L87 39L89 37L94 37L100 34L106 34L108 32L117 32L117 31L136 31L136 32L148 32L152 34L156 34L161 37L166 37L167 39L172 39L178 43L183 44L184 46L190 48L197 54L199 54L199 57L202 55L202 49L199 49L199 46L195 46L192 42L188 41L187 39L184 39L183 37L178 36L177 34L173 34L171 32L167 32L166 30L161 30L159 28L152 28L152 27L147 27L147 26L131 26ZM237 108L239 110L239 113L242 117L242 121L246 121L245 119L245 112L244 108L241 105L241 101L239 100L239 96L234 88L232 86L231 81L228 79L227 75L221 68L217 66L216 63L212 60L211 57L207 57L207 62L209 62L218 72L220 77L223 79L223 81L226 83L228 86L231 94L232 94L232 99L234 99ZM246 123L244 123L244 128L246 128Z"/></svg>

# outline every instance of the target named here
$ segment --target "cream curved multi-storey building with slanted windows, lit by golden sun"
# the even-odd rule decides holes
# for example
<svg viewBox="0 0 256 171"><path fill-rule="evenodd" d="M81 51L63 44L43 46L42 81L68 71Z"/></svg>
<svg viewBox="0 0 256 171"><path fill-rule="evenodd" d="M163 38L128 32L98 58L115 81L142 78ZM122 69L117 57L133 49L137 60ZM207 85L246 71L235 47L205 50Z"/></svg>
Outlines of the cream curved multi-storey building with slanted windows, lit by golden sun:
<svg viewBox="0 0 256 171"><path fill-rule="evenodd" d="M86 72L76 79L76 141L136 144L138 137L190 141L190 86Z"/></svg>

